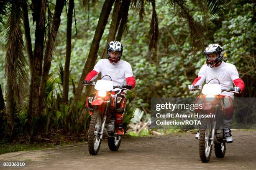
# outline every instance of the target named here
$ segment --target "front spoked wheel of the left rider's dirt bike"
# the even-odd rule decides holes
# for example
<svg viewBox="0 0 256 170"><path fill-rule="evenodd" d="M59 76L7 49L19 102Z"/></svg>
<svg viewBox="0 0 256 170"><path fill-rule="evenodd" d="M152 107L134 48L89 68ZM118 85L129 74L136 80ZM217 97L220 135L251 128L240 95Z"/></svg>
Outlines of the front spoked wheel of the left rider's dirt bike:
<svg viewBox="0 0 256 170"><path fill-rule="evenodd" d="M92 119L89 125L88 133L88 148L91 155L97 155L100 150L100 132L101 132L102 118L101 112L95 110L92 114Z"/></svg>

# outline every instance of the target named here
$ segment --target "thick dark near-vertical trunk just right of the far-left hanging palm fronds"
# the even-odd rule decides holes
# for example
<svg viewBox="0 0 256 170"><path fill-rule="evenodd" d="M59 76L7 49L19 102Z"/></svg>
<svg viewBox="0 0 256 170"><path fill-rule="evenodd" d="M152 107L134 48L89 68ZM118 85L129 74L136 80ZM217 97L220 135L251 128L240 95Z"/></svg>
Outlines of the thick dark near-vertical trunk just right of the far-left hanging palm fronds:
<svg viewBox="0 0 256 170"><path fill-rule="evenodd" d="M39 115L39 83L42 70L42 60L44 52L44 32L46 19L46 0L32 0L33 20L36 21L35 47L33 60L33 77L32 77L32 97L29 103L32 103L32 110L28 109L28 115ZM41 15L42 14L42 15ZM30 112L31 111L31 112Z"/></svg>

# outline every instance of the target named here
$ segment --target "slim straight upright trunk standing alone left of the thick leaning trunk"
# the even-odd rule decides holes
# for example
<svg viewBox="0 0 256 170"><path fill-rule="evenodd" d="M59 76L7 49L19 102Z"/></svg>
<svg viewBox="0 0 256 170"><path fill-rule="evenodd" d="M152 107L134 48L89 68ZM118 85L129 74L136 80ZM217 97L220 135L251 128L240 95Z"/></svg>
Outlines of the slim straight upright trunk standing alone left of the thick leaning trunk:
<svg viewBox="0 0 256 170"><path fill-rule="evenodd" d="M71 55L71 39L72 39L72 18L73 18L74 0L69 0L69 11L67 16L67 47L66 47L66 60L64 68L63 80L63 102L69 102L69 64Z"/></svg>

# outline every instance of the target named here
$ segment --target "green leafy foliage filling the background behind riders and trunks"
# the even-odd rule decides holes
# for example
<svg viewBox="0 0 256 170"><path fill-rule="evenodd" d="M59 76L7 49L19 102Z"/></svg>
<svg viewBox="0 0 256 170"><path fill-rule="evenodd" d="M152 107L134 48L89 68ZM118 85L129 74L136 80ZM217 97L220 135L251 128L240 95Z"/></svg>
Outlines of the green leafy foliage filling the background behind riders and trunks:
<svg viewBox="0 0 256 170"><path fill-rule="evenodd" d="M62 104L62 82L63 82L63 65L65 63L66 54L66 27L67 14L63 10L61 15L61 25L56 37L56 49L53 54L51 64L51 74L46 82L46 90L44 96L44 112L42 117L33 117L32 132L35 122L41 121L46 134L56 131L64 133L77 133L84 130L87 132L90 115L87 113L84 119L84 125L78 124L78 118L84 107L83 102L74 103L72 97L72 79L75 85L79 81L84 63L87 59L88 52L95 33L95 28L100 15L103 1L95 3L94 7L90 7L90 12L81 7L80 1L75 0L77 27L73 19L72 27L72 53L70 61L70 77L69 77L69 104ZM206 44L216 42L223 46L225 57L223 60L236 65L240 77L246 83L246 89L243 97L255 97L255 3L252 0L233 0L228 2L228 10L220 10L218 15L211 16L209 20L205 20L201 15L200 8L187 1L189 6L189 14L195 20L203 25L204 34L207 37ZM53 10L54 5L49 3ZM159 21L159 40L158 52L156 58L148 55L148 32L151 22L151 7L145 7L145 18L143 22L139 22L138 13L134 13L131 9L128 16L129 32L122 37L124 46L123 60L131 63L133 74L136 78L136 87L128 92L127 108L124 116L124 126L127 127L133 110L136 108L144 108L150 112L150 103L152 97L195 97L198 92L190 92L187 85L197 77L197 73L205 64L205 56L202 50L196 54L192 53L190 46L191 39L189 33L189 25L187 20L180 18L174 10L174 7L166 5L165 1L156 1L156 13ZM32 45L34 44L35 24L29 11L29 20L31 28ZM89 14L89 18L88 17ZM111 18L111 16L110 16ZM88 19L88 20L87 20ZM7 17L3 16L5 22ZM87 23L88 22L88 23ZM76 29L77 28L77 32ZM108 31L110 28L110 20L106 26L100 48L97 53L98 59L105 48ZM0 37L4 37L3 27L0 27ZM24 35L23 35L24 39ZM5 40L0 39L0 55L5 56ZM28 60L26 56L26 60ZM6 80L4 77L5 57L0 57L0 83L5 95ZM26 96L28 98L28 96ZM16 120L14 128L20 128L20 133L24 133L27 118L26 109L16 109ZM144 110L143 109L143 110ZM71 110L71 112L68 112ZM39 119L39 120L38 120ZM0 132L5 133L6 117L3 113L0 115ZM125 130L127 130L125 128ZM145 135L148 132L142 132Z"/></svg>

